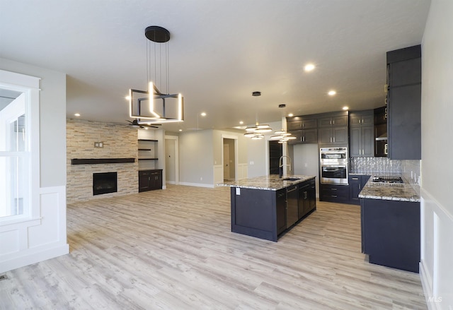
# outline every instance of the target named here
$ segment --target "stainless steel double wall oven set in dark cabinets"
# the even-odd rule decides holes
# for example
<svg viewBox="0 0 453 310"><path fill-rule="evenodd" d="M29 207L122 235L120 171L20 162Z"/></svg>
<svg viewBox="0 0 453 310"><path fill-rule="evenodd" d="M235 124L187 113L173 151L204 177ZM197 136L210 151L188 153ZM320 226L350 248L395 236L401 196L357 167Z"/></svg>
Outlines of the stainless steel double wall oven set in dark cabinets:
<svg viewBox="0 0 453 310"><path fill-rule="evenodd" d="M320 148L321 184L348 184L348 148Z"/></svg>

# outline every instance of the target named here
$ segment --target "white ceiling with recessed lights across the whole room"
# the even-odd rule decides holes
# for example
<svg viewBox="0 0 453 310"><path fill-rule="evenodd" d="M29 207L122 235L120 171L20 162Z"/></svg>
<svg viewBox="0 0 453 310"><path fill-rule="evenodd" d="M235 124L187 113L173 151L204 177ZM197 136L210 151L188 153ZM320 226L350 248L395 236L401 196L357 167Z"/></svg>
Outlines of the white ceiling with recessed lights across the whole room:
<svg viewBox="0 0 453 310"><path fill-rule="evenodd" d="M185 121L223 129L384 105L386 52L420 44L429 0L0 0L0 57L67 73L67 117L126 123L147 90L144 29L171 32ZM304 64L316 64L306 73ZM1 68L1 63L0 63ZM326 95L335 89L335 97ZM164 90L164 89L161 89ZM252 97L259 90L260 97ZM285 103L285 109L278 105ZM206 112L207 117L197 117Z"/></svg>

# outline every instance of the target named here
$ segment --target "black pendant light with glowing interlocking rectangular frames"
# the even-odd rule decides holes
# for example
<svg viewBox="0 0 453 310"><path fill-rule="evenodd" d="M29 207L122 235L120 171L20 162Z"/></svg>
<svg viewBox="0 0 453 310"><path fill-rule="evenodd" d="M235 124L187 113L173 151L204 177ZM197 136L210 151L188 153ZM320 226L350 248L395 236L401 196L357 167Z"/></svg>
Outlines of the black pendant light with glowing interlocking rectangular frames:
<svg viewBox="0 0 453 310"><path fill-rule="evenodd" d="M159 26L149 26L144 30L147 37L147 84L148 90L129 90L130 117L143 123L169 123L184 120L184 102L181 94L169 93L168 41L170 32ZM151 81L151 42L154 42L154 83ZM165 44L164 44L165 43ZM162 46L164 45L164 52ZM159 61L157 54L159 54ZM162 56L164 54L164 56ZM164 72L161 70L164 58ZM159 66L158 66L159 62ZM159 67L159 74L158 74ZM162 80L165 80L162 83ZM166 93L161 93L156 83L166 85Z"/></svg>

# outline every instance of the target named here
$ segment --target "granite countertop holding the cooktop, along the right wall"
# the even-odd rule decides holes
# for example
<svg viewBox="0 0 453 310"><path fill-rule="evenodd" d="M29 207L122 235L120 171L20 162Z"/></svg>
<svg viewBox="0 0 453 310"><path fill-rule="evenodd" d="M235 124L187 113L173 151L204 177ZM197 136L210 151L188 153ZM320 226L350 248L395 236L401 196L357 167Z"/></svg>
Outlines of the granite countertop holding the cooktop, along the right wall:
<svg viewBox="0 0 453 310"><path fill-rule="evenodd" d="M409 184L404 178L404 184L373 183L373 177L374 175L369 178L360 191L359 198L420 202L420 186L417 184Z"/></svg>

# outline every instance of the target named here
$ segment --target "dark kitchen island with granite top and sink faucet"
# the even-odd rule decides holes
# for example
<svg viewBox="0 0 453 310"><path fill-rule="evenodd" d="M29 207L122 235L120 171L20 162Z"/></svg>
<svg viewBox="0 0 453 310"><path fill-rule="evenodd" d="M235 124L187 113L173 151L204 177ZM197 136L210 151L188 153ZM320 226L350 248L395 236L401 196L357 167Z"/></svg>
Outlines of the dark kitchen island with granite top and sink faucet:
<svg viewBox="0 0 453 310"><path fill-rule="evenodd" d="M219 186L231 187L231 232L277 242L316 210L315 177L275 174Z"/></svg>

